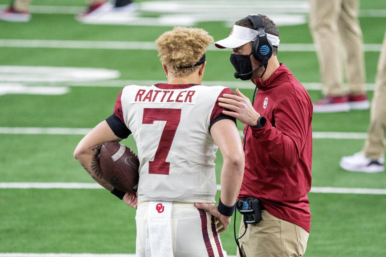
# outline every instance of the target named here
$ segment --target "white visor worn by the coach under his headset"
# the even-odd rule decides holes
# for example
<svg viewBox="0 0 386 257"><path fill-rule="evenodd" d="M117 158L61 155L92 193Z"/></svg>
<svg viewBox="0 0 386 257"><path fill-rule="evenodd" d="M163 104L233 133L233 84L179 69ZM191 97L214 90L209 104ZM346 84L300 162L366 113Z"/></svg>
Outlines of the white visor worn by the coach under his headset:
<svg viewBox="0 0 386 257"><path fill-rule="evenodd" d="M271 41L271 44L277 47L280 42L279 37L268 33L266 34L267 39ZM258 35L259 32L257 30L234 25L233 29L230 31L229 37L215 42L215 46L218 48L237 48L248 42L255 41Z"/></svg>

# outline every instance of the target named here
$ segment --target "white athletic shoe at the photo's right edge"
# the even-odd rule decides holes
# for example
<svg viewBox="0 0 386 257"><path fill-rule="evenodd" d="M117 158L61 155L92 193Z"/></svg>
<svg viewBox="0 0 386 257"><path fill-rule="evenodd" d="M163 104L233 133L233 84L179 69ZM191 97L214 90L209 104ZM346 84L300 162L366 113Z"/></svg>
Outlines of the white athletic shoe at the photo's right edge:
<svg viewBox="0 0 386 257"><path fill-rule="evenodd" d="M362 152L354 155L344 156L340 159L340 167L347 171L358 171L366 173L375 173L384 171L384 158L370 160Z"/></svg>

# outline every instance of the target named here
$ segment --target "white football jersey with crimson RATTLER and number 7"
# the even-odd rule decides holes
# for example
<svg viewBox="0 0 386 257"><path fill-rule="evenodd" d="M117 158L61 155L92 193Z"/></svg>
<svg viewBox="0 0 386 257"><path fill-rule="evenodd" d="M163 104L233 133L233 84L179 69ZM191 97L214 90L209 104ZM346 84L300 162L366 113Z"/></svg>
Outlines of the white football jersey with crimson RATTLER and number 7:
<svg viewBox="0 0 386 257"><path fill-rule="evenodd" d="M215 203L218 146L209 129L221 115L215 103L224 89L232 94L223 86L196 84L122 90L124 123L140 161L138 201Z"/></svg>

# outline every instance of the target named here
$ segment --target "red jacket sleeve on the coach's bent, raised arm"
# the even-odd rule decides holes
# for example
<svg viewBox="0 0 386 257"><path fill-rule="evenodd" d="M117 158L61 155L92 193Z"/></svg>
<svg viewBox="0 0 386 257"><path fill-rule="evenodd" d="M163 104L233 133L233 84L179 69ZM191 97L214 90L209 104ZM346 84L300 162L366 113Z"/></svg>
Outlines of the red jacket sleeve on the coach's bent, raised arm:
<svg viewBox="0 0 386 257"><path fill-rule="evenodd" d="M262 128L251 127L252 135L271 158L291 167L298 162L304 148L311 112L310 106L301 99L283 100L274 109L274 126L267 120Z"/></svg>

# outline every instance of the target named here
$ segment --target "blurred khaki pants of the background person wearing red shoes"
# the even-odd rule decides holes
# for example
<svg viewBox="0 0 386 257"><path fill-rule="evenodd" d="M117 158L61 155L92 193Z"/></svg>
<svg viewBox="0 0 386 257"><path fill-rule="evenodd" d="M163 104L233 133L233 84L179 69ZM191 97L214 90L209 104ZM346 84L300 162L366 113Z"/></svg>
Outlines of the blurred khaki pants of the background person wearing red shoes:
<svg viewBox="0 0 386 257"><path fill-rule="evenodd" d="M365 92L359 0L310 0L310 29L317 49L323 95L343 96L342 60L349 94Z"/></svg>

